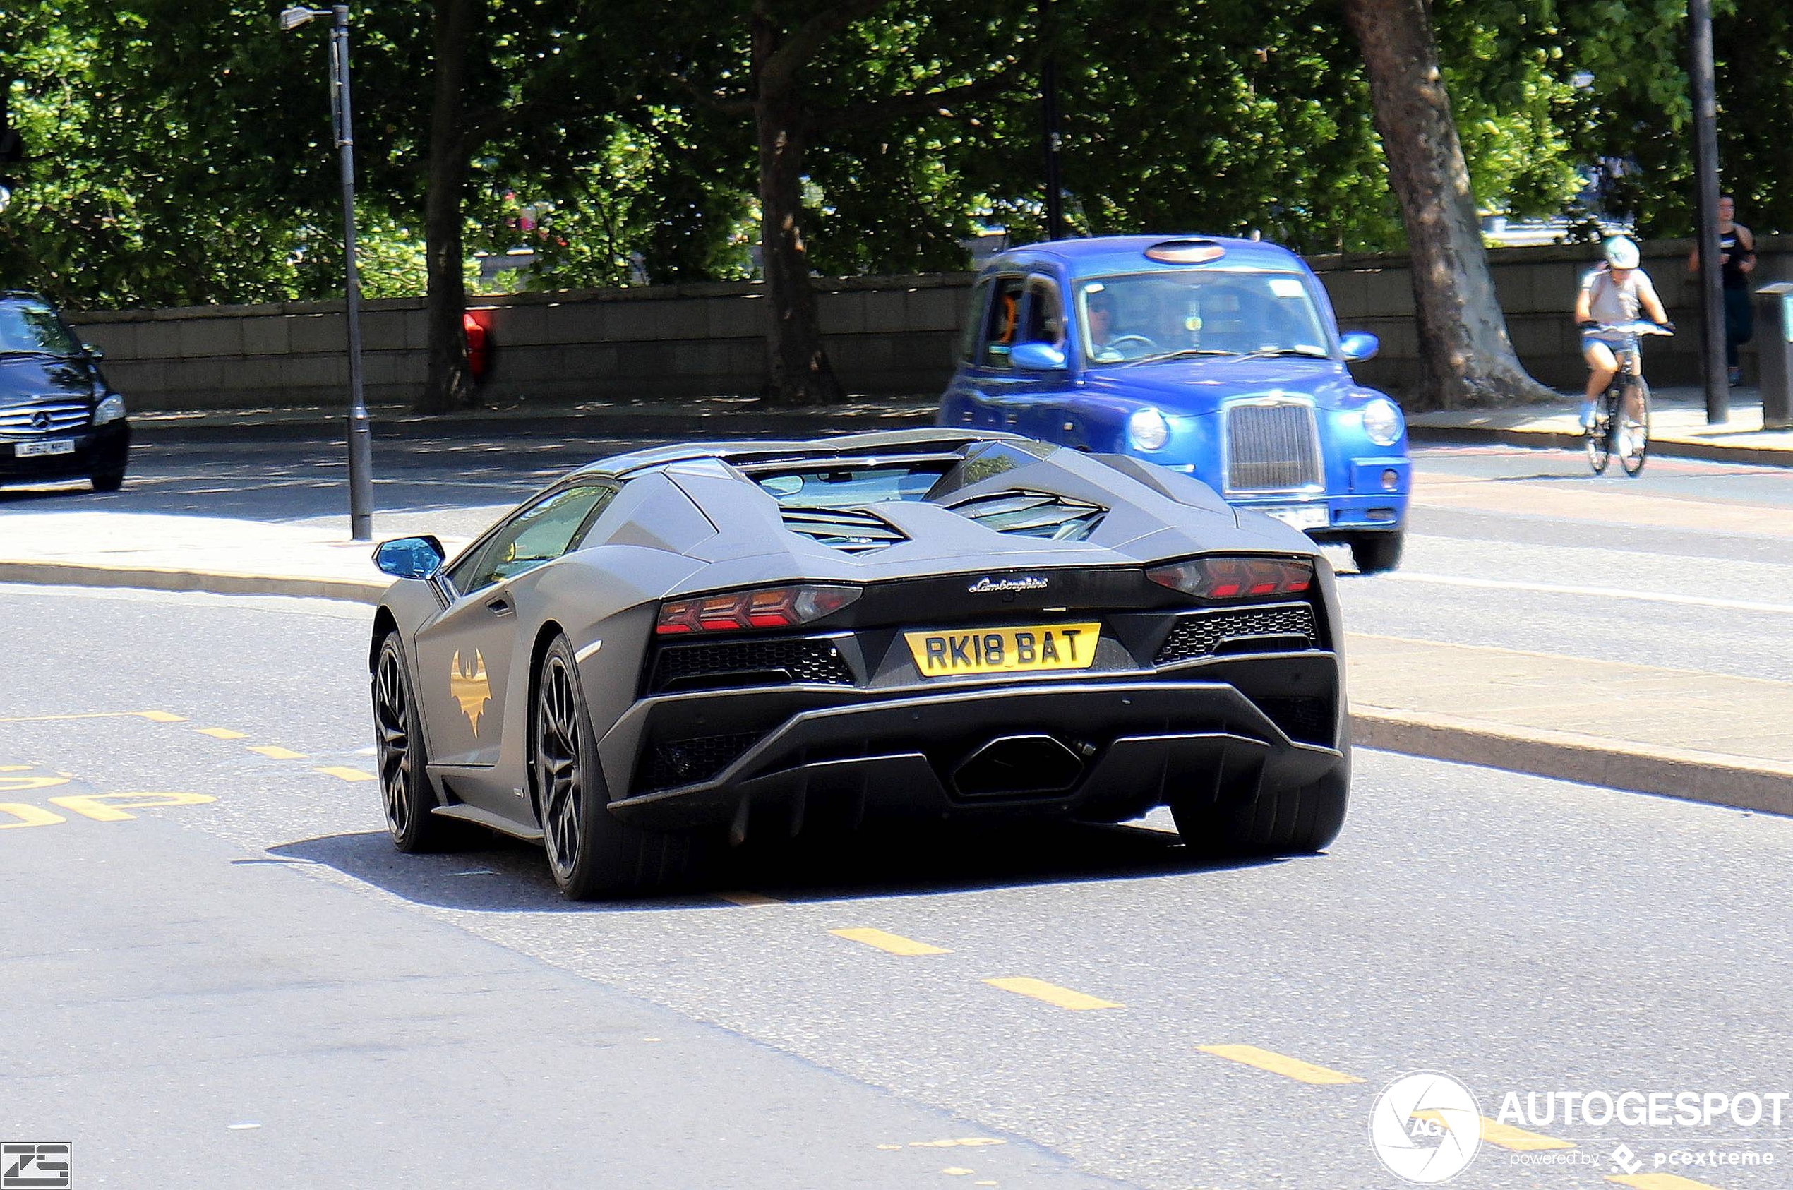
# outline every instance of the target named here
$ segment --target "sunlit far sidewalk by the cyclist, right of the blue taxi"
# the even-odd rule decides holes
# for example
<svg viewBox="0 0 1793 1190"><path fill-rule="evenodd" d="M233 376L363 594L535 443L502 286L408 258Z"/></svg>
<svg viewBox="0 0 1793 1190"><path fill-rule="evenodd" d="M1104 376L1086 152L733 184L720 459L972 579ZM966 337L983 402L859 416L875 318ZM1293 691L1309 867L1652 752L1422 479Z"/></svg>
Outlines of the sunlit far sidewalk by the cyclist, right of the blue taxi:
<svg viewBox="0 0 1793 1190"><path fill-rule="evenodd" d="M1651 453L1748 466L1793 466L1793 430L1763 428L1763 400L1755 389L1732 389L1730 421L1718 427L1705 423L1703 389L1653 389L1650 400ZM1411 414L1408 430L1416 443L1490 441L1580 450L1580 398L1565 396L1558 405Z"/></svg>

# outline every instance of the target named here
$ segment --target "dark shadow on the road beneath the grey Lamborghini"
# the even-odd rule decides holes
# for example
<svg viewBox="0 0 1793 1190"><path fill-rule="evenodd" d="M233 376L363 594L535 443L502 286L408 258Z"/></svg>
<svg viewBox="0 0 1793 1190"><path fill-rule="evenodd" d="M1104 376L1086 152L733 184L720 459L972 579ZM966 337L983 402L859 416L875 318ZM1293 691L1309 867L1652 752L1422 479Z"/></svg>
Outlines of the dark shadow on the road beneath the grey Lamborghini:
<svg viewBox="0 0 1793 1190"><path fill-rule="evenodd" d="M1045 884L1140 880L1282 860L1205 858L1171 832L1083 823L871 823L861 832L746 848L715 846L694 876L656 896L568 903L541 848L488 835L468 849L403 855L385 832L325 835L269 849L321 864L420 905L472 912L663 912L717 909L753 891L782 901L877 900Z"/></svg>

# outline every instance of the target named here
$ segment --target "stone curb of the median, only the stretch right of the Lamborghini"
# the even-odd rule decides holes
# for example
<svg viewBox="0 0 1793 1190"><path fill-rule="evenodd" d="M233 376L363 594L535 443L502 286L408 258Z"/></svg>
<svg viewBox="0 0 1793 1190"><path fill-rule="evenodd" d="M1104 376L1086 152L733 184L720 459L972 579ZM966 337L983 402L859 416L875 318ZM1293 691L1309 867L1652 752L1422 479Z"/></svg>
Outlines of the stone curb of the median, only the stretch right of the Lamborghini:
<svg viewBox="0 0 1793 1190"><path fill-rule="evenodd" d="M1354 706L1352 742L1390 753L1793 815L1793 765L1723 753Z"/></svg>

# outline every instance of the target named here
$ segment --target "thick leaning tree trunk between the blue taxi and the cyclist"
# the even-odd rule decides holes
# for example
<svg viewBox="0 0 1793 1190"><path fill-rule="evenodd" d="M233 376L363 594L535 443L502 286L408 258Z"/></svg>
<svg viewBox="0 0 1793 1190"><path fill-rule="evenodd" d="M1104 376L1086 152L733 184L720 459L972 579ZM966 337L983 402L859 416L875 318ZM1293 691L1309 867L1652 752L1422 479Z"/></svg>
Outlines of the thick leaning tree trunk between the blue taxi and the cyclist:
<svg viewBox="0 0 1793 1190"><path fill-rule="evenodd" d="M1463 143L1438 72L1429 0L1345 0L1345 20L1363 47L1375 131L1413 254L1420 376L1409 403L1460 409L1553 398L1506 337ZM1563 294L1565 310L1569 299Z"/></svg>

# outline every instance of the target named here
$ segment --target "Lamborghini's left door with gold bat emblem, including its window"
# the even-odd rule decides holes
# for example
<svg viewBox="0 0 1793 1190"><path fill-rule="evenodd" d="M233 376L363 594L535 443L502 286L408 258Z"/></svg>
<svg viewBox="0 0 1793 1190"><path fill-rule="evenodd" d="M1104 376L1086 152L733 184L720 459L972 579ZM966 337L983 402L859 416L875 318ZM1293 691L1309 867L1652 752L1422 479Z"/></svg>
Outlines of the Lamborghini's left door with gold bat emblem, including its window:
<svg viewBox="0 0 1793 1190"><path fill-rule="evenodd" d="M516 511L448 572L454 602L416 636L418 681L429 710L430 760L445 767L486 767L504 747L506 710L527 697L518 672L518 615L513 582L568 550L615 487L570 482ZM522 686L520 690L513 686Z"/></svg>

